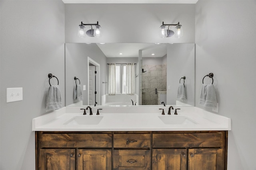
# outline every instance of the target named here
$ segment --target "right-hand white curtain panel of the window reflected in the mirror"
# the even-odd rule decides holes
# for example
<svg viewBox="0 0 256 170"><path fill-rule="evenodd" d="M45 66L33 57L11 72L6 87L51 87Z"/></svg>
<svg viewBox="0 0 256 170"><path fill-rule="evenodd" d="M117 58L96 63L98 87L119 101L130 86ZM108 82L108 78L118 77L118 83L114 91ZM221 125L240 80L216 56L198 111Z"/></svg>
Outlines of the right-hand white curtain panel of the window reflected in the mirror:
<svg viewBox="0 0 256 170"><path fill-rule="evenodd" d="M126 64L126 94L135 93L135 68L134 63Z"/></svg>

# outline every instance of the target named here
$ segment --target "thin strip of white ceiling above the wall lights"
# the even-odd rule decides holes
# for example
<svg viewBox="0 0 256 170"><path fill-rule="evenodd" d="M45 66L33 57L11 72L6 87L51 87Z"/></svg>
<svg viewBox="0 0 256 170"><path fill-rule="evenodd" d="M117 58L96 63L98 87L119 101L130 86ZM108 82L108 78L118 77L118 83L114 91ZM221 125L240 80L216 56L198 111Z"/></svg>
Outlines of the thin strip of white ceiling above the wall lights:
<svg viewBox="0 0 256 170"><path fill-rule="evenodd" d="M198 0L62 0L65 4L196 4Z"/></svg>

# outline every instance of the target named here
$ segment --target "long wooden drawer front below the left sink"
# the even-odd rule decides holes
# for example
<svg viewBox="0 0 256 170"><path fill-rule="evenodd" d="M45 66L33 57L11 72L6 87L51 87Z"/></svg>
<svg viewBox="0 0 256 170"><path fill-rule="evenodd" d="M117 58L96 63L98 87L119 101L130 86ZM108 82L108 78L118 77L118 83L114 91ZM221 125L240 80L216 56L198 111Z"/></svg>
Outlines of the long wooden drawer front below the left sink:
<svg viewBox="0 0 256 170"><path fill-rule="evenodd" d="M42 148L53 147L86 147L111 148L112 134L75 134L75 133L41 133L38 135Z"/></svg>

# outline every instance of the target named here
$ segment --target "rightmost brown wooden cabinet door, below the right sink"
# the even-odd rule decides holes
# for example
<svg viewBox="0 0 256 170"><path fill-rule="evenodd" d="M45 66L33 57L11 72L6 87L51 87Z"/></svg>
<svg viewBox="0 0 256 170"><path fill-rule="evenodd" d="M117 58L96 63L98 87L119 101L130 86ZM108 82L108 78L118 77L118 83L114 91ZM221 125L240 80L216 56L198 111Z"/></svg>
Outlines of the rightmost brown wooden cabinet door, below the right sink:
<svg viewBox="0 0 256 170"><path fill-rule="evenodd" d="M224 170L222 149L189 149L188 170Z"/></svg>

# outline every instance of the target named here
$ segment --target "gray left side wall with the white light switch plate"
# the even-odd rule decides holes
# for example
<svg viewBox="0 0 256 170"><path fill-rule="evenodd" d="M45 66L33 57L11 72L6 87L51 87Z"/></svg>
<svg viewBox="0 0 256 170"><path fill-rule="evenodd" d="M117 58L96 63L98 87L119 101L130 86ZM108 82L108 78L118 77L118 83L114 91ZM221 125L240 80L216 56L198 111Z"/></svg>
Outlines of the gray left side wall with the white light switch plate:
<svg viewBox="0 0 256 170"><path fill-rule="evenodd" d="M33 170L32 119L46 113L48 73L57 76L65 104L64 4L1 0L0 9L0 169ZM14 87L23 88L23 100L6 103L6 88Z"/></svg>

